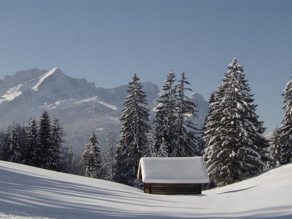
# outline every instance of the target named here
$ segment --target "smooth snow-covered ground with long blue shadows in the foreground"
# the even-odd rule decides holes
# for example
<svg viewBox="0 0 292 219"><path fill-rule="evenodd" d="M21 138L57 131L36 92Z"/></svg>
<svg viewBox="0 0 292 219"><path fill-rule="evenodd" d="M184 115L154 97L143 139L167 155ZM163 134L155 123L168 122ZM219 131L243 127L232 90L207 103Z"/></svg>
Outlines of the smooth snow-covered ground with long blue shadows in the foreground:
<svg viewBox="0 0 292 219"><path fill-rule="evenodd" d="M151 195L0 161L0 218L292 218L292 164L200 195Z"/></svg>

